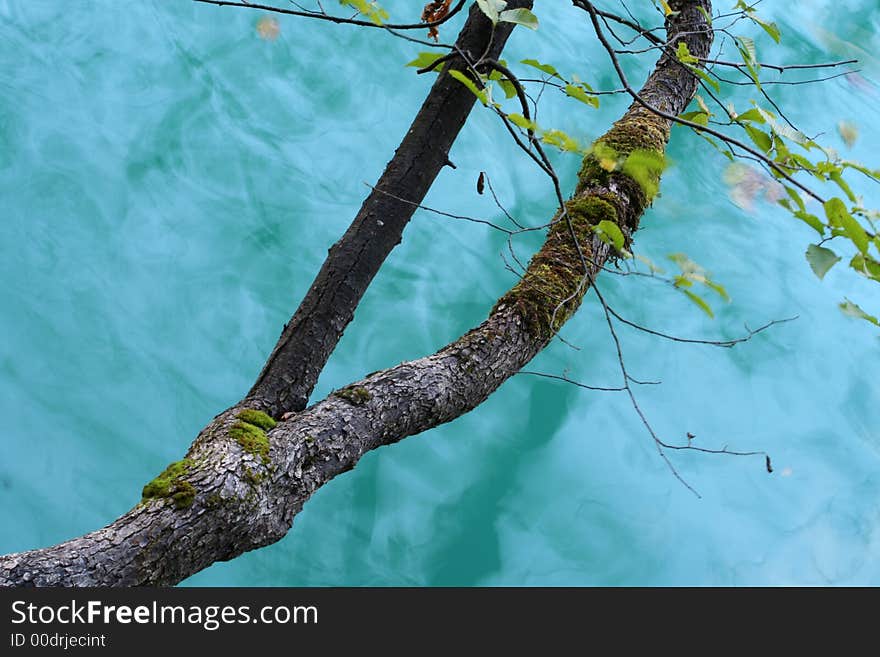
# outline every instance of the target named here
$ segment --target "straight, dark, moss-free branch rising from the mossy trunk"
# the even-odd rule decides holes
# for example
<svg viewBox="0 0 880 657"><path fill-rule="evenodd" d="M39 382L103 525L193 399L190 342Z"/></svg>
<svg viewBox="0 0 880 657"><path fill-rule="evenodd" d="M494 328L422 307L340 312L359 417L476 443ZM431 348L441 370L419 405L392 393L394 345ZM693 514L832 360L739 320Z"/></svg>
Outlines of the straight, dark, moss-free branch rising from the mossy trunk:
<svg viewBox="0 0 880 657"><path fill-rule="evenodd" d="M531 7L512 0L510 8ZM456 48L476 61L487 53L497 59L513 24L492 24L471 7ZM465 70L461 57L448 70ZM474 95L444 71L403 138L375 190L342 238L330 248L317 278L284 327L247 402L275 416L305 408L309 395L373 277L400 244L416 205L448 162L449 149L474 106ZM405 199L409 202L401 201Z"/></svg>

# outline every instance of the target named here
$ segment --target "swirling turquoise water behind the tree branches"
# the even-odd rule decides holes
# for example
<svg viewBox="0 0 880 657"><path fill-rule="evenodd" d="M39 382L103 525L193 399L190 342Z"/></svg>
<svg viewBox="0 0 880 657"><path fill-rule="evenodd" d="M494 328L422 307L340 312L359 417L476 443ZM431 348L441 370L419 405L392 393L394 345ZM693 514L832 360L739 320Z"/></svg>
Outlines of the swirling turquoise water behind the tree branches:
<svg viewBox="0 0 880 657"><path fill-rule="evenodd" d="M764 59L857 56L861 73L775 87L777 99L805 132L880 165L876 2L787 5L761 4L784 35L776 50L758 37ZM614 85L581 13L549 0L536 12L541 30L519 30L508 60ZM428 89L403 67L419 46L295 18L266 40L260 17L186 0L0 0L2 552L111 521L241 397ZM624 104L593 112L548 93L541 121L587 140ZM851 149L839 120L859 128ZM810 229L735 204L726 161L693 135L677 131L670 154L637 246L658 262L686 252L733 301L713 302L711 320L650 280L601 285L624 316L683 336L799 316L733 350L620 329L632 373L663 381L637 390L658 431L767 450L772 476L759 459L672 455L697 499L623 396L518 376L470 415L369 454L278 544L187 583L880 584L880 339L836 309L849 296L877 314L877 286L843 268L820 283L803 258ZM499 220L474 190L486 171L521 220L552 214L545 180L487 112L452 160L429 205ZM576 159L556 163L570 189ZM880 206L880 187L858 192ZM417 214L314 399L482 319L513 280L503 248L485 226ZM594 299L564 337L580 350L556 343L531 369L618 384Z"/></svg>

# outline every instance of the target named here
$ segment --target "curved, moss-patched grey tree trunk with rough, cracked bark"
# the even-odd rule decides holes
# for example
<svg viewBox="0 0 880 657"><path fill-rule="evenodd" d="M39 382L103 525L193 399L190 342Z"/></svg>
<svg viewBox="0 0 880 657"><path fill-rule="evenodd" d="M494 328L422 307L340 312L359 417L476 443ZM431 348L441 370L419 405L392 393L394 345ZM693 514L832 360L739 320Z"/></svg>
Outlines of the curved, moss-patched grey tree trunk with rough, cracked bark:
<svg viewBox="0 0 880 657"><path fill-rule="evenodd" d="M672 0L666 29L706 57L709 0ZM696 79L663 54L641 90L653 107L679 114ZM599 140L621 157L662 153L670 123L639 102ZM276 423L246 403L218 415L186 459L144 489L124 516L60 545L0 557L2 585L169 585L218 560L279 540L309 496L367 451L479 405L552 339L614 252L592 231L618 223L631 237L651 185L592 157L521 280L488 319L436 354L377 372ZM587 271L584 270L587 265Z"/></svg>

